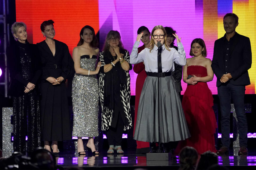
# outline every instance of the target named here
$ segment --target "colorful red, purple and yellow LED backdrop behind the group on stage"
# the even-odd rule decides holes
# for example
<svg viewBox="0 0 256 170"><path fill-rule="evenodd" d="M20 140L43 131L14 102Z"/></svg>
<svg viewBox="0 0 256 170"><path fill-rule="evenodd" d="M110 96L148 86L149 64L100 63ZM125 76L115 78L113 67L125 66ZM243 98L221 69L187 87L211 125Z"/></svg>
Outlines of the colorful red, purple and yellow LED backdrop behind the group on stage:
<svg viewBox="0 0 256 170"><path fill-rule="evenodd" d="M253 64L249 70L251 85L246 94L255 94L256 60L256 2L255 0L16 0L16 20L27 24L30 43L43 41L40 24L53 19L55 39L66 43L72 54L84 25L91 25L99 33L100 48L110 30L121 33L124 47L131 52L137 29L145 25L152 30L155 25L173 27L185 47L189 58L190 43L195 38L205 40L207 57L212 59L214 41L225 33L223 16L233 12L239 17L236 31L251 40ZM175 42L176 43L176 42ZM143 45L141 43L141 45ZM102 50L102 49L100 49ZM135 95L137 74L130 71L131 95ZM208 86L217 94L216 77ZM182 82L184 93L186 84Z"/></svg>

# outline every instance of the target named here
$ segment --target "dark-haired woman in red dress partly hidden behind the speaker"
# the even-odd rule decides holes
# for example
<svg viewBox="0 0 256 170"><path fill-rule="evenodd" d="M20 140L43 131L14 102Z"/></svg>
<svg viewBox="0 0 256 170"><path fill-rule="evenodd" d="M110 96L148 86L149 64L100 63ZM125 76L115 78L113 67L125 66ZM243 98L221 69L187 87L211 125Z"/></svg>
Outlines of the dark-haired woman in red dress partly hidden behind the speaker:
<svg viewBox="0 0 256 170"><path fill-rule="evenodd" d="M149 29L145 26L141 26L139 27L137 33L141 34L142 32L143 32L143 36L141 37L141 41L142 43L144 43L144 45L138 48L138 53L140 53L144 48L148 48L149 42L150 42ZM133 134L134 134L136 120L137 120L139 97L141 96L141 90L142 90L144 81L147 77L147 74L146 74L145 66L143 62L135 64L133 67L133 71L138 74L136 79L136 88L135 88L135 115L134 115L134 126L133 126L134 127ZM136 154L149 152L149 142L142 142L142 141L136 141L136 142L137 142Z"/></svg>

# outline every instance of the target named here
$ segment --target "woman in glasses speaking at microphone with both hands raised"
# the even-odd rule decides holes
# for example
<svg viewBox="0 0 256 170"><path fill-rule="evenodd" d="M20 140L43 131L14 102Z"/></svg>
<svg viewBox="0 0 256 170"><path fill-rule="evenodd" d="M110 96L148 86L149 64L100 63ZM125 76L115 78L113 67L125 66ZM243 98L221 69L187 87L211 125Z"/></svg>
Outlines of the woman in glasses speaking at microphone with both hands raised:
<svg viewBox="0 0 256 170"><path fill-rule="evenodd" d="M161 143L181 141L190 137L186 119L175 87L175 81L171 76L174 71L174 62L178 65L186 65L186 53L181 43L181 38L175 34L178 52L169 48L166 43L166 32L162 25L157 25L151 31L150 48L143 49L137 54L141 40L138 34L130 55L130 63L144 62L147 78L144 82L139 100L137 123L134 139L144 142L159 142L158 133L158 104L160 107L160 133ZM158 46L161 50L161 60L158 63ZM158 103L158 65L159 65L159 103Z"/></svg>

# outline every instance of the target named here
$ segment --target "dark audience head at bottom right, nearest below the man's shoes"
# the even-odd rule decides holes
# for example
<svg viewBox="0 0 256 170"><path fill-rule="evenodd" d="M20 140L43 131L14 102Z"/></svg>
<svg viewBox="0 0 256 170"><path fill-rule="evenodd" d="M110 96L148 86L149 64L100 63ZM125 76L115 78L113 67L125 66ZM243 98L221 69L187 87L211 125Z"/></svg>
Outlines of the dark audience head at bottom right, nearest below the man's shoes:
<svg viewBox="0 0 256 170"><path fill-rule="evenodd" d="M216 153L211 151L206 151L203 154L201 154L201 158L199 159L199 162L197 164L197 169L207 169L212 165L218 164L218 156Z"/></svg>

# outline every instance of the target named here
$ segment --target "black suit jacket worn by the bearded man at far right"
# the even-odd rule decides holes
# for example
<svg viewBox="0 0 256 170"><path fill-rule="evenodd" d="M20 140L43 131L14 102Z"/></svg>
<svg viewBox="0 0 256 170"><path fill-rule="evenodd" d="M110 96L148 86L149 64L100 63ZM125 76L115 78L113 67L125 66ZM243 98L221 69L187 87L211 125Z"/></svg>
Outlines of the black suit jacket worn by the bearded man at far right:
<svg viewBox="0 0 256 170"><path fill-rule="evenodd" d="M224 42L226 40L226 34L214 43L213 61L211 67L214 74L217 77L217 87L224 83L220 82L220 79L225 73L224 68ZM234 35L234 46L230 49L229 56L229 73L232 76L226 83L234 85L249 85L250 78L248 70L251 68L251 43L250 39L246 36L240 35L237 32Z"/></svg>

